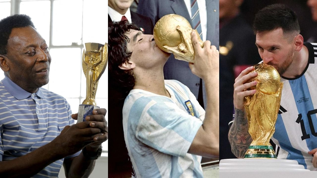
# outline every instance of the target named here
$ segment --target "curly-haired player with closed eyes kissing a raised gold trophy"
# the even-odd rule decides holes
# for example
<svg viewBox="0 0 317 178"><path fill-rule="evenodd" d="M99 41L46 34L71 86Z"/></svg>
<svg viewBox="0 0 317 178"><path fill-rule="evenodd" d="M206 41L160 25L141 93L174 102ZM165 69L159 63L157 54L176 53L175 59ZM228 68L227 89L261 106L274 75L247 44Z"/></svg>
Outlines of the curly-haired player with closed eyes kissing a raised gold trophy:
<svg viewBox="0 0 317 178"><path fill-rule="evenodd" d="M121 21L108 31L109 72L129 91L123 131L133 177L203 177L201 156L219 155L219 52L191 34L190 67L206 83L205 112L187 86L164 80L170 54L138 29Z"/></svg>

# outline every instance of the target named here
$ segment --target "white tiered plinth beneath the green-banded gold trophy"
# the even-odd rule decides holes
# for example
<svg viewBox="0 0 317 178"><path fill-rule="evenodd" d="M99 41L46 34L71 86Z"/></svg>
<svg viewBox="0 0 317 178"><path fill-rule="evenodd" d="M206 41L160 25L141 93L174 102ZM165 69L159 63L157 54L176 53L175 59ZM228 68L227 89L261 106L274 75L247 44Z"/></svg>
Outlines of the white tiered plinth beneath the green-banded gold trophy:
<svg viewBox="0 0 317 178"><path fill-rule="evenodd" d="M295 160L244 158L223 159L219 163L219 178L306 178L317 171L305 169Z"/></svg>

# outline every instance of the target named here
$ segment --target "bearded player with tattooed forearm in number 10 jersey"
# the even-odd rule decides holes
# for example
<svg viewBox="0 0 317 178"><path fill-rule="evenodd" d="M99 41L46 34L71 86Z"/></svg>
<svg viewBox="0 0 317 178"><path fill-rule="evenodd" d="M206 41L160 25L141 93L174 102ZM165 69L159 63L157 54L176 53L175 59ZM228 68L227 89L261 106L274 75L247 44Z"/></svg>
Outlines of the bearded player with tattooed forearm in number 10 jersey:
<svg viewBox="0 0 317 178"><path fill-rule="evenodd" d="M317 170L316 43L304 42L297 16L281 4L260 10L254 20L256 46L263 63L276 68L283 82L280 111L273 142L279 159L293 159L310 170ZM247 82L257 73L254 67L242 71L234 84L235 119L229 131L231 150L241 158L252 138L248 132L243 99L256 93L246 90L257 81ZM312 156L313 154L313 156Z"/></svg>

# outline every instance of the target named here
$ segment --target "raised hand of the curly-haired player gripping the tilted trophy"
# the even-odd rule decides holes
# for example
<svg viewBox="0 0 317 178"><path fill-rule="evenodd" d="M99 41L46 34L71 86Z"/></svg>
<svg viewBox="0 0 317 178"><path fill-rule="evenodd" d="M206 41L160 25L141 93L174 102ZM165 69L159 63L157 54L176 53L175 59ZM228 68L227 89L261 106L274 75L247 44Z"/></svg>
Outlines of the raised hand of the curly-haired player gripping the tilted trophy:
<svg viewBox="0 0 317 178"><path fill-rule="evenodd" d="M195 63L189 63L191 72L199 78L219 77L219 51L215 46L210 46L210 41L204 42L204 48L200 47L195 31L191 32L191 41L195 50ZM217 78L219 82L219 78Z"/></svg>

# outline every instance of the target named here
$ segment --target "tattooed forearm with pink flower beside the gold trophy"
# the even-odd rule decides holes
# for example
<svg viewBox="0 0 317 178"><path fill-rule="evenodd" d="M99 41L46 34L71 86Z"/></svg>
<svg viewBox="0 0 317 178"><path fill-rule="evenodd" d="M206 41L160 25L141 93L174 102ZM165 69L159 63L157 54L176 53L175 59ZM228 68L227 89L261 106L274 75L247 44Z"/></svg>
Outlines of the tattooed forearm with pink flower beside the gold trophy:
<svg viewBox="0 0 317 178"><path fill-rule="evenodd" d="M243 110L235 109L235 120L229 130L228 139L232 153L238 158L243 158L252 142L248 132L248 119Z"/></svg>

